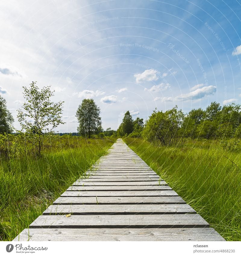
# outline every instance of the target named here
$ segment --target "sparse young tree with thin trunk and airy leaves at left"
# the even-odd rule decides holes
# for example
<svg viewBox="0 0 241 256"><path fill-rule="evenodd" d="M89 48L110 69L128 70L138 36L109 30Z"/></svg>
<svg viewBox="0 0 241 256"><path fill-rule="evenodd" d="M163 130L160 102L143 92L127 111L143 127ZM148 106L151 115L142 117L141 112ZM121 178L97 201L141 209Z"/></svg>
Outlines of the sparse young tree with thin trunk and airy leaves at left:
<svg viewBox="0 0 241 256"><path fill-rule="evenodd" d="M44 137L52 134L59 124L64 124L61 121L64 102L50 101L54 91L50 90L50 86L40 90L36 83L32 82L30 88L23 87L26 103L23 103L23 110L17 110L17 118L22 128L19 132L31 140L40 156Z"/></svg>

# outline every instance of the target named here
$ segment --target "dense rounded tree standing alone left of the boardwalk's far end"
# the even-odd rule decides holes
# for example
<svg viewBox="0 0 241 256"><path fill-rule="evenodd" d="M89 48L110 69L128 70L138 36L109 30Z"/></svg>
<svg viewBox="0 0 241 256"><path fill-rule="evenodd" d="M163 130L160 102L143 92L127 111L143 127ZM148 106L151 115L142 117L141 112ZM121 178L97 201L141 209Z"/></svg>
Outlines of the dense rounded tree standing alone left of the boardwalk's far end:
<svg viewBox="0 0 241 256"><path fill-rule="evenodd" d="M90 138L91 134L99 131L101 127L100 108L93 99L82 100L77 109L76 117L79 122L78 132L81 135L86 136L88 134L88 138Z"/></svg>

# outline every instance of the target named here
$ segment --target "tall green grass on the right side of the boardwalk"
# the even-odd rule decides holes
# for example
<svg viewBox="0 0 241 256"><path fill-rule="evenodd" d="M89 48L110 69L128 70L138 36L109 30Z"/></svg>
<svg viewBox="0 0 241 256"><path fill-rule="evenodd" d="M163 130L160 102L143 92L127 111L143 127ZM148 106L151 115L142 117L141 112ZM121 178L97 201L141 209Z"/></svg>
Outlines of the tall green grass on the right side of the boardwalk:
<svg viewBox="0 0 241 256"><path fill-rule="evenodd" d="M211 140L184 147L125 142L226 240L241 241L240 151L224 150Z"/></svg>

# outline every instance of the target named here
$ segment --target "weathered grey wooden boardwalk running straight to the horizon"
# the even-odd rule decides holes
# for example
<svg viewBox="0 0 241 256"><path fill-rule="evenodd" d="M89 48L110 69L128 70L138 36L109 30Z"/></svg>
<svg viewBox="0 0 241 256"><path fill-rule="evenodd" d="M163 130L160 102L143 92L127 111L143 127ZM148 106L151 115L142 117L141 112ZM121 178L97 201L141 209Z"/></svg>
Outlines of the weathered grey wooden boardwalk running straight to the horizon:
<svg viewBox="0 0 241 256"><path fill-rule="evenodd" d="M14 241L225 241L121 139Z"/></svg>

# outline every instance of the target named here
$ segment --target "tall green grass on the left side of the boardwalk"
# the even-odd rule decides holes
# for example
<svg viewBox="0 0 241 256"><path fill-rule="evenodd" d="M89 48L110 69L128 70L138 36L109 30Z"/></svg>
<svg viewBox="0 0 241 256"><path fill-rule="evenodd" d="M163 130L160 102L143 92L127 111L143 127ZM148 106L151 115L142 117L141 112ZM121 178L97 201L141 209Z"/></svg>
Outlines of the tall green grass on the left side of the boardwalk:
<svg viewBox="0 0 241 256"><path fill-rule="evenodd" d="M11 241L28 228L114 141L63 136L40 158L0 159L0 240Z"/></svg>

